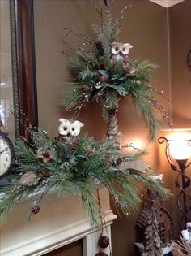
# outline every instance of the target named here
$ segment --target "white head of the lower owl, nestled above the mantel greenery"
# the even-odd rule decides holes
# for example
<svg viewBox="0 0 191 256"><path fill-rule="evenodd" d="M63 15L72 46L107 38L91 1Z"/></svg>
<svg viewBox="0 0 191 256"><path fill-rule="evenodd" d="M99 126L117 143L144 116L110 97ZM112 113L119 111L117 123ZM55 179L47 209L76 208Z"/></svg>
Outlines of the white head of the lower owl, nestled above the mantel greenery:
<svg viewBox="0 0 191 256"><path fill-rule="evenodd" d="M72 136L77 137L79 135L83 123L79 121L70 121L69 119L60 118L58 119L59 126L58 132L62 136Z"/></svg>

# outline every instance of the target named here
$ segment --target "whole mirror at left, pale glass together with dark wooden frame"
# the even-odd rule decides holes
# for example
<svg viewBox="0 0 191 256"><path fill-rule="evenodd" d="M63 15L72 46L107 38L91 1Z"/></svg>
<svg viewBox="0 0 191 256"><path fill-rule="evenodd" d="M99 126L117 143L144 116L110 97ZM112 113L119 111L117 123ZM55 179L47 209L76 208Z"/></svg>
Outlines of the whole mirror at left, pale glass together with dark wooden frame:
<svg viewBox="0 0 191 256"><path fill-rule="evenodd" d="M28 124L38 124L32 4L10 0L0 6L1 118L11 137L28 137Z"/></svg>

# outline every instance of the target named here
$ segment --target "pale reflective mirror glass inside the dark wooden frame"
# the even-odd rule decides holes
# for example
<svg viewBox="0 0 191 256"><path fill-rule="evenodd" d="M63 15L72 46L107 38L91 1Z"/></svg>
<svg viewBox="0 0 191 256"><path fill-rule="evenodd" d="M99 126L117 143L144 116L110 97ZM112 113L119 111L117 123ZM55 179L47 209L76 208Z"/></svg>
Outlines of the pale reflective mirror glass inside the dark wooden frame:
<svg viewBox="0 0 191 256"><path fill-rule="evenodd" d="M11 33L9 2L0 2L0 126L10 137L15 137L13 82L11 68Z"/></svg>

